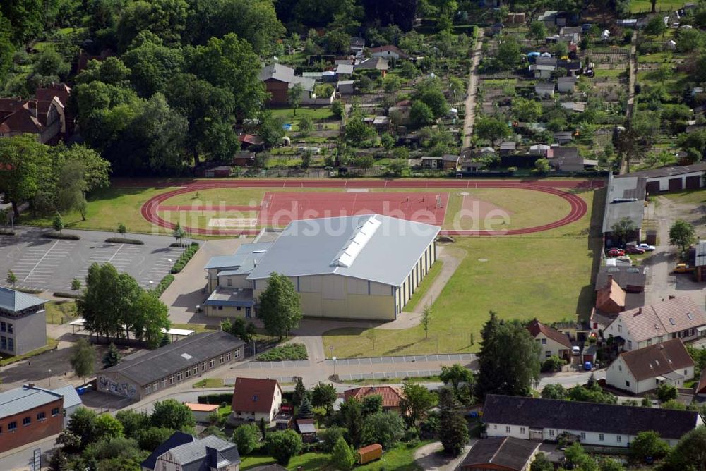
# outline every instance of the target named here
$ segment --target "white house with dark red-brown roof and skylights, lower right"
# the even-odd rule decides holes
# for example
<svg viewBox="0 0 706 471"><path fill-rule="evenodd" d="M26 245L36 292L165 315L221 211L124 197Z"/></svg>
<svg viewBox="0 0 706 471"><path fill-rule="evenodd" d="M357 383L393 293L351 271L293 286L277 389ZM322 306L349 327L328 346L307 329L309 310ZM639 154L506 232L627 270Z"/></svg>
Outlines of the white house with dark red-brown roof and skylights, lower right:
<svg viewBox="0 0 706 471"><path fill-rule="evenodd" d="M633 394L663 383L681 388L693 377L694 361L681 338L623 352L606 370L606 384Z"/></svg>

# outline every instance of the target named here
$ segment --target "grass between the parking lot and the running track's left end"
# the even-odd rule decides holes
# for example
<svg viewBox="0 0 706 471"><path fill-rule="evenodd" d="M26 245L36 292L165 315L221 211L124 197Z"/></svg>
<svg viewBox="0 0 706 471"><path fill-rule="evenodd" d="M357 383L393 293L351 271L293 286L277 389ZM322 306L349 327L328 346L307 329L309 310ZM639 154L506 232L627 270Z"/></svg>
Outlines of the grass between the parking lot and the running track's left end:
<svg viewBox="0 0 706 471"><path fill-rule="evenodd" d="M123 223L128 232L152 233L157 231L140 213L142 205L155 195L174 188L106 188L94 192L88 198L88 213L82 221L78 212L62 214L67 229L101 229L114 231L118 223ZM18 224L31 226L52 226L53 216L32 217L23 214ZM129 237L129 236L128 236Z"/></svg>

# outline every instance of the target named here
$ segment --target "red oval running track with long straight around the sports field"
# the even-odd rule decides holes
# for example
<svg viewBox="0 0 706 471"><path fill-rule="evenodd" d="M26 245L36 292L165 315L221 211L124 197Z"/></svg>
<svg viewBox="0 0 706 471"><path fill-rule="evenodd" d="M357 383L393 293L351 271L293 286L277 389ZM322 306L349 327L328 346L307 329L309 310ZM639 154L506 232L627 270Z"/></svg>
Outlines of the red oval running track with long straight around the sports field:
<svg viewBox="0 0 706 471"><path fill-rule="evenodd" d="M136 182L137 183L137 182ZM175 195L213 188L517 188L534 190L556 195L570 205L569 213L557 221L542 226L510 229L507 231L467 231L445 229L442 234L451 236L518 236L522 234L549 231L581 219L587 212L587 204L577 195L560 188L602 188L603 181L590 180L203 180L194 181L184 187L164 192L150 198L141 209L145 219L156 226L173 229L176 225L165 221L159 214L160 204ZM255 235L258 229L207 229L191 228L191 233L210 236Z"/></svg>

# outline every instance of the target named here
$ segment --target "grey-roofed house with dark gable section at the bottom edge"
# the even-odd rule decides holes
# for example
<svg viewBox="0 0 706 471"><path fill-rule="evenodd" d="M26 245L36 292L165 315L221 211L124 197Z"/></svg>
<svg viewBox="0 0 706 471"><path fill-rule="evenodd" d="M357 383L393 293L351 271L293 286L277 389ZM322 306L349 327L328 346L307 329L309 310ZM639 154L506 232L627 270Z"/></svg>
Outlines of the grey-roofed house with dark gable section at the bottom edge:
<svg viewBox="0 0 706 471"><path fill-rule="evenodd" d="M140 467L142 471L239 471L240 455L234 443L215 435L198 439L174 432Z"/></svg>

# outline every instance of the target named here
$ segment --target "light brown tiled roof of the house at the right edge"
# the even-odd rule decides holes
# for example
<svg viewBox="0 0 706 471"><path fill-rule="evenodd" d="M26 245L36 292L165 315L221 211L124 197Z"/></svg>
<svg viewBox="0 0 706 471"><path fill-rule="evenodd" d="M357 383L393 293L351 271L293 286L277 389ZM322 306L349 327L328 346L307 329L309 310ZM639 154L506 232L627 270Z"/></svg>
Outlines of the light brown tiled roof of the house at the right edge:
<svg viewBox="0 0 706 471"><path fill-rule="evenodd" d="M690 296L623 311L614 322L618 319L636 342L706 325L706 314Z"/></svg>

